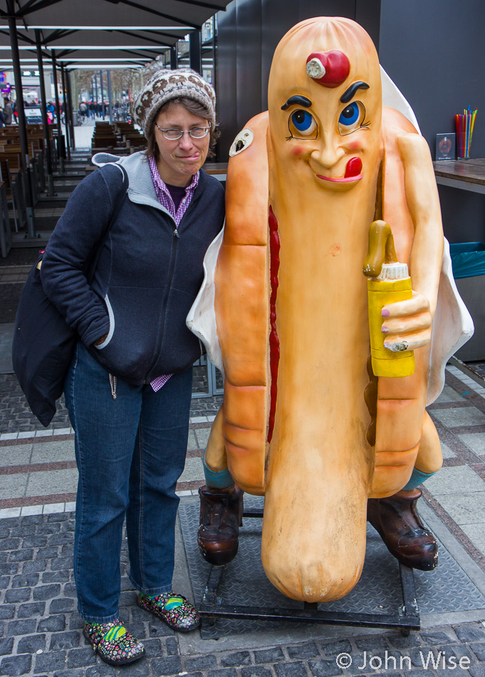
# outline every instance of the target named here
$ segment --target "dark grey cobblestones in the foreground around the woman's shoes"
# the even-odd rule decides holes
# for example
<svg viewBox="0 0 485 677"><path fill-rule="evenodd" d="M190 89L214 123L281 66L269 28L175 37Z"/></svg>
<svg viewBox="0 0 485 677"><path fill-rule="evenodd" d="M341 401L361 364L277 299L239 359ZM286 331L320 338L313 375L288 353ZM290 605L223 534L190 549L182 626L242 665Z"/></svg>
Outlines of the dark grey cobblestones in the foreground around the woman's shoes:
<svg viewBox="0 0 485 677"><path fill-rule="evenodd" d="M155 616L135 606L135 591L125 575L125 544L120 616L144 641L147 657L131 666L113 668L85 644L82 621L75 611L72 513L4 519L0 534L1 675L485 675L485 631L480 622L424 629L408 637L398 631L370 634L354 630L345 634L343 629L335 634L335 629L320 626L320 636L311 641L293 642L288 636L284 642L273 643L270 631L267 636L261 634L251 648L218 651L217 641L209 641L207 651L187 651L184 639L189 635L177 636Z"/></svg>

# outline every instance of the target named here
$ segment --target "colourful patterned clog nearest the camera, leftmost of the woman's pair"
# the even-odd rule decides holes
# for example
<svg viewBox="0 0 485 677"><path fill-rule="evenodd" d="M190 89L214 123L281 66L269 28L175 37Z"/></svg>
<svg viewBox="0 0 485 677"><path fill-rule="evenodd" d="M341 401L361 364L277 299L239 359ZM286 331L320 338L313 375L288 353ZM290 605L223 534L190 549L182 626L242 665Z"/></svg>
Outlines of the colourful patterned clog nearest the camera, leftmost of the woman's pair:
<svg viewBox="0 0 485 677"><path fill-rule="evenodd" d="M83 633L93 651L109 665L122 666L145 656L143 644L130 635L120 619L113 623L85 622Z"/></svg>

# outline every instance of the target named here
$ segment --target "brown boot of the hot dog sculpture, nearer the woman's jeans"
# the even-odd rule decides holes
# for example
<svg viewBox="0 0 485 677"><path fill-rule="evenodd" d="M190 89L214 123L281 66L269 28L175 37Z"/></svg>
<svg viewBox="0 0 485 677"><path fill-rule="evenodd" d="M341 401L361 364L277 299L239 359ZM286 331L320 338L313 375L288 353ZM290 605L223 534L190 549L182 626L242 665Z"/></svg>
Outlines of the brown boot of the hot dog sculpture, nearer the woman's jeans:
<svg viewBox="0 0 485 677"><path fill-rule="evenodd" d="M239 487L200 487L200 526L197 543L202 557L223 567L236 557L242 524L244 492Z"/></svg>

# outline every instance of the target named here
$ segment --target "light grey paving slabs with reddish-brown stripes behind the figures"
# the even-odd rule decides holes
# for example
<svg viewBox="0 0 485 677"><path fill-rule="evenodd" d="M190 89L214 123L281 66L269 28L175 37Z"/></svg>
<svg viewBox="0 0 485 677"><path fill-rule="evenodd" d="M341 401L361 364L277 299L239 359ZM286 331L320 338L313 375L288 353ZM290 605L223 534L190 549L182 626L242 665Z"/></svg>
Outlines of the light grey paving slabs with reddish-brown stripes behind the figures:
<svg viewBox="0 0 485 677"><path fill-rule="evenodd" d="M12 391L15 376L3 378L11 379L6 390L10 385ZM454 366L447 367L446 379L442 395L428 408L442 441L444 467L425 483L424 497L485 571L485 388ZM77 470L66 409L61 403L48 429L32 426L28 421L35 419L21 392L14 392L4 398L4 415L16 425L0 434L0 517L75 500ZM181 495L192 495L203 483L201 457L220 403L220 396L192 400L187 463L177 487ZM8 427L4 420L3 428Z"/></svg>

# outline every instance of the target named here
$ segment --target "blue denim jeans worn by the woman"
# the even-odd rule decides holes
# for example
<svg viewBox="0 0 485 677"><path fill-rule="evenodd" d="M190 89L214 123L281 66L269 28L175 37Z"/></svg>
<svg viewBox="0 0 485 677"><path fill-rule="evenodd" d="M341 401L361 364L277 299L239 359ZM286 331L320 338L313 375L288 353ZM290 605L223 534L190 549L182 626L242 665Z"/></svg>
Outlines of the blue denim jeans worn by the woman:
<svg viewBox="0 0 485 677"><path fill-rule="evenodd" d="M155 393L110 377L78 343L64 393L79 470L74 577L85 621L118 618L126 515L130 581L145 594L172 589L174 532L184 470L192 368Z"/></svg>

